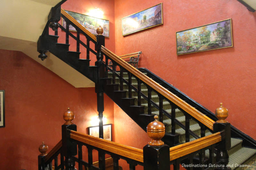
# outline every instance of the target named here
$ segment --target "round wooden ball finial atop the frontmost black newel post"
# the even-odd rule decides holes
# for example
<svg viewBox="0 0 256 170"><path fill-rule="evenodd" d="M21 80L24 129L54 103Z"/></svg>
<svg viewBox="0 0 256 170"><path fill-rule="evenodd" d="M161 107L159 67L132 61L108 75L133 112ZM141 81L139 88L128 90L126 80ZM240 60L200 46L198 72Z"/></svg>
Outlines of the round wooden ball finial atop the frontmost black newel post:
<svg viewBox="0 0 256 170"><path fill-rule="evenodd" d="M164 145L164 142L161 139L165 134L165 126L162 122L159 122L158 116L154 116L155 121L150 122L147 126L147 134L151 138L148 142L150 146L161 146Z"/></svg>

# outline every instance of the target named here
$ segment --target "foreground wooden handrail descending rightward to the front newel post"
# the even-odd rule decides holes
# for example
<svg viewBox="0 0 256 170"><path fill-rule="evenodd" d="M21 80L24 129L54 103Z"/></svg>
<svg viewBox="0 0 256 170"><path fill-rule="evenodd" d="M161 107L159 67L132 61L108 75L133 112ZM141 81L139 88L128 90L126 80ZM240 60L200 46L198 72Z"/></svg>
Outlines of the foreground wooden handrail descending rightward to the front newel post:
<svg viewBox="0 0 256 170"><path fill-rule="evenodd" d="M143 150L70 130L70 138L126 158L143 162Z"/></svg>

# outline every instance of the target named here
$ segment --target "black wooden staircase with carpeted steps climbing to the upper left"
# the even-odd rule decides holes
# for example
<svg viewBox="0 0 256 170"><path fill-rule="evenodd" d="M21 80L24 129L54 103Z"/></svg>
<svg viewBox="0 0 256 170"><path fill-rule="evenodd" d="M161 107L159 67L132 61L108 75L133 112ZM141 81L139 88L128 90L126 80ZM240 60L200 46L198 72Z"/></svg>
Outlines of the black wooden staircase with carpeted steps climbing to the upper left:
<svg viewBox="0 0 256 170"><path fill-rule="evenodd" d="M60 11L60 7L53 10ZM124 65L119 64L109 57L108 53L111 52L101 47L101 45L104 46L104 37L102 35L97 36L96 39L84 27L79 26L79 23L72 20L72 17L70 18L65 11L62 10L61 14L61 17L67 22L66 28L60 26L60 29L66 32L66 43L58 43L59 36L56 31L58 26L56 26L57 28L53 26L55 35L49 35L49 25L54 25L54 22L56 22L56 19L54 20L52 18L58 18L58 16L50 17L43 34L37 42L38 52L41 53L39 57L42 60L47 58L45 55L46 51L50 51L85 77L95 82L97 95L98 92L105 92L144 130L146 130L148 123L154 120L154 115L158 115L159 121L163 122L166 127L166 134L163 141L169 146L179 145L212 134L213 128L207 124L207 121L214 122L217 119L209 110L146 69L139 69L144 73L142 78L138 78L131 71L124 69ZM77 36L74 36L68 31L69 24L78 30ZM86 44L80 40L79 33L85 35L87 39ZM69 37L77 41L77 51L69 51ZM95 50L90 48L90 42L93 45L95 44ZM80 45L87 48L86 59L80 59ZM97 56L98 65L90 65L90 52ZM103 62L103 58L105 62ZM108 60L111 60L113 63L112 68L104 64L108 63ZM145 79L149 78L152 78L155 81L153 83L158 83L158 85L155 85L155 87L148 85ZM156 87L159 87L160 90L158 91ZM167 95L160 92L163 89L165 91L166 89L169 90ZM166 97L172 93L176 95L173 99ZM189 109L185 109L185 107L189 107ZM99 110L102 110L101 106L98 107ZM206 119L206 121L201 121L203 119ZM231 137L231 148L228 150L230 161L228 164L231 169L236 169L236 164L243 164L247 160L255 157L256 141L234 127L231 128ZM205 152L205 157L206 159L201 161L207 163L209 152ZM197 158L194 158L195 162L196 160Z"/></svg>

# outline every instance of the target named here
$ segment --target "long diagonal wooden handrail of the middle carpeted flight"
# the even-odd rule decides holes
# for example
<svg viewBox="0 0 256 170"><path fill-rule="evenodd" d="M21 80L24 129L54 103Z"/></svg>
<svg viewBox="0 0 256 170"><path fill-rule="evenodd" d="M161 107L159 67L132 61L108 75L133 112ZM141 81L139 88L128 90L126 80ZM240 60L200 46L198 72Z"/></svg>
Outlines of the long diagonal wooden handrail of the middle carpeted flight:
<svg viewBox="0 0 256 170"><path fill-rule="evenodd" d="M101 46L101 51L105 55L108 55L108 57L114 60L116 63L120 64L120 66L124 67L125 70L131 72L134 76L140 78L140 80L142 80L144 83L146 83L147 85L155 89L157 92L162 94L166 99L172 101L178 107L180 107L185 112L187 112L189 115L193 116L196 120L203 123L209 129L213 130L214 121L211 118L207 117L206 115L198 111L195 107L192 107L187 102L183 101L178 96L168 91L162 85L159 85L154 80L152 80L151 78L149 78L148 76L146 76L145 74L137 70L136 68L132 67L129 63L126 63L122 58L112 53L110 50L108 50L104 46Z"/></svg>

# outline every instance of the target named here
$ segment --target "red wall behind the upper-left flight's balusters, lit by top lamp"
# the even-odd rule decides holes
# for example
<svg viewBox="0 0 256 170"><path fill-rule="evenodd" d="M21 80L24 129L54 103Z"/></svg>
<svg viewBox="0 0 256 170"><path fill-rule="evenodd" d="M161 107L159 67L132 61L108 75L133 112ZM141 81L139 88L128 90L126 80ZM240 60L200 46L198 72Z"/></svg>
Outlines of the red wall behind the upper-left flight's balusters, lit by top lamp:
<svg viewBox="0 0 256 170"><path fill-rule="evenodd" d="M91 9L95 7L100 8L104 14L102 19L109 20L109 38L105 38L105 46L111 51L115 52L115 9L114 9L114 0L68 0L64 4L61 5L61 8L68 11L73 11L81 14L87 14ZM60 22L61 23L61 22ZM54 34L53 32L50 32ZM76 36L76 32L73 32ZM58 29L58 35L60 38L58 39L59 43L66 43L66 33ZM80 40L86 44L85 36L80 34ZM76 41L69 36L69 50L76 51ZM90 42L90 48L94 50L94 44ZM80 58L86 58L86 48L80 45ZM90 53L90 65L94 65L96 61L96 56Z"/></svg>

